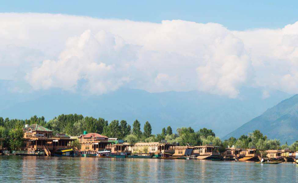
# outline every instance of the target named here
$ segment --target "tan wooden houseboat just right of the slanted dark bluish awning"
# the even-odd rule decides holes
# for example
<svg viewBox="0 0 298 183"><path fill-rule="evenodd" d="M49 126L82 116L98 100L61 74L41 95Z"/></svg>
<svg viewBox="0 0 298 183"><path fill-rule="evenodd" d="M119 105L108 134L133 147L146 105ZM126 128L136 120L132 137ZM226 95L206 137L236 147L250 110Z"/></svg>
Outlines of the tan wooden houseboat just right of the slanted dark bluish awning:
<svg viewBox="0 0 298 183"><path fill-rule="evenodd" d="M220 146L214 146L213 144L194 146L193 155L199 160L219 158L219 148Z"/></svg>

